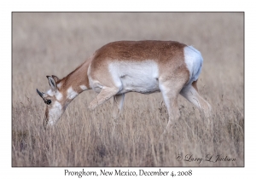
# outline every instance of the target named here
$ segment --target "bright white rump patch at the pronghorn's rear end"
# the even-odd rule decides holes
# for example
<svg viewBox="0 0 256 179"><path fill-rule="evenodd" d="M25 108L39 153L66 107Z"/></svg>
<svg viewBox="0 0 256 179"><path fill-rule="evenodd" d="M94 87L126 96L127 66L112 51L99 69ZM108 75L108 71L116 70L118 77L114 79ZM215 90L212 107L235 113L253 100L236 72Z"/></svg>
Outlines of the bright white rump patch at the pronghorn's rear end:
<svg viewBox="0 0 256 179"><path fill-rule="evenodd" d="M201 66L203 58L200 51L195 49L192 46L184 48L185 63L189 69L189 83L192 84L195 80L198 79L201 73Z"/></svg>

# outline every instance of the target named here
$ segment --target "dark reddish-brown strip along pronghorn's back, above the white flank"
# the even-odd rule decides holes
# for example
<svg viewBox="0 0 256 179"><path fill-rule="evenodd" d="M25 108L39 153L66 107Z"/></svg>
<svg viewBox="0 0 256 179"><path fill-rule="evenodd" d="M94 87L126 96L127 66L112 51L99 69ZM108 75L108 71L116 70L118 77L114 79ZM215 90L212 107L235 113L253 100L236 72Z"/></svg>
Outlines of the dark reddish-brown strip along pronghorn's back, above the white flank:
<svg viewBox="0 0 256 179"><path fill-rule="evenodd" d="M112 58L120 61L170 60L169 57L183 53L187 45L176 41L118 41L108 43L96 50L96 59Z"/></svg>

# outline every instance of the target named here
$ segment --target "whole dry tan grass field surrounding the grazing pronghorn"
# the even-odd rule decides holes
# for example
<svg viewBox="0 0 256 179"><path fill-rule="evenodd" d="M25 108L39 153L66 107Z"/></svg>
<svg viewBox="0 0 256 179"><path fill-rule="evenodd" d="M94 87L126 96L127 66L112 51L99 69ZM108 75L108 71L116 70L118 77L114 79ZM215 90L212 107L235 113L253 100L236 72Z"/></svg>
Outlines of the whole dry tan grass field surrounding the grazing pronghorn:
<svg viewBox="0 0 256 179"><path fill-rule="evenodd" d="M243 20L242 13L13 13L12 166L243 166ZM181 118L160 140L168 118L160 93L125 95L114 127L113 99L90 112L96 94L88 90L44 130L36 89L49 90L46 75L65 77L106 43L145 39L201 51L208 121L179 96Z"/></svg>

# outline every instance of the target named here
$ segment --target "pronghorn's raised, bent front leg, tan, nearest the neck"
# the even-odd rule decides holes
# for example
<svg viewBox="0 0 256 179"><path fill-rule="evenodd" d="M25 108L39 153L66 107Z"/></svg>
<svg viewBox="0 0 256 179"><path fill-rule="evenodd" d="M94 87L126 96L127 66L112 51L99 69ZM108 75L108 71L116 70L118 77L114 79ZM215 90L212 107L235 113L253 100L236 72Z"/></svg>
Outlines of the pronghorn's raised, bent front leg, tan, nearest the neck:
<svg viewBox="0 0 256 179"><path fill-rule="evenodd" d="M93 110L98 105L108 101L109 98L111 98L113 95L116 95L118 92L118 88L103 87L100 94L96 96L96 99L90 102L89 109Z"/></svg>

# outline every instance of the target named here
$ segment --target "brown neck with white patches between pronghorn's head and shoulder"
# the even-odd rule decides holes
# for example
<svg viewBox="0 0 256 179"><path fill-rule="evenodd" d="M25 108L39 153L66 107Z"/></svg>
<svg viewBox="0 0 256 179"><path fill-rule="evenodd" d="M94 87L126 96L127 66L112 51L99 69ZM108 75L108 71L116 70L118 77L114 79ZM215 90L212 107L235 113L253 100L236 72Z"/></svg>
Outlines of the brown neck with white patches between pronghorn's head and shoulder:
<svg viewBox="0 0 256 179"><path fill-rule="evenodd" d="M84 90L90 90L89 79L87 75L90 59L85 61L81 66L77 67L67 77L57 82L57 87L63 95L64 99L72 101L77 95ZM66 103L66 102L65 102Z"/></svg>

